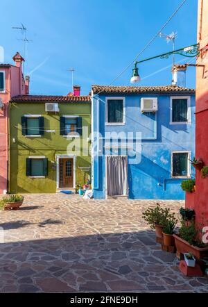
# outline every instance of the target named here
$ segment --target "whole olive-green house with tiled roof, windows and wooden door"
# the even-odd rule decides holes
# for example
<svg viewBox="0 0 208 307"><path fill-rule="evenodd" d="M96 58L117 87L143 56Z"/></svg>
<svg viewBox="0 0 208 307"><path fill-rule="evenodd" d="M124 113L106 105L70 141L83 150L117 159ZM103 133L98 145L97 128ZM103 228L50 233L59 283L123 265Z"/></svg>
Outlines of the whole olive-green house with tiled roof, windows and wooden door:
<svg viewBox="0 0 208 307"><path fill-rule="evenodd" d="M10 193L55 193L91 179L89 96L10 101Z"/></svg>

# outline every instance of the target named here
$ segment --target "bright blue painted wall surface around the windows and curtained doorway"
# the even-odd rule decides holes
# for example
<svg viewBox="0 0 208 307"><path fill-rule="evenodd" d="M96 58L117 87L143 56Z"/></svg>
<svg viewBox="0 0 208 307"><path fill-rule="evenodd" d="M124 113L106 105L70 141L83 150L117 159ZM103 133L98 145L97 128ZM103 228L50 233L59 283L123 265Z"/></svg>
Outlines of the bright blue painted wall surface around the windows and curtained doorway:
<svg viewBox="0 0 208 307"><path fill-rule="evenodd" d="M171 97L191 97L191 124L170 124ZM106 97L125 97L125 125L105 125ZM142 97L157 97L157 113L141 113L140 101ZM94 94L92 106L92 129L94 138L96 132L103 135L98 148L92 153L92 181L94 198L105 199L105 156L118 154L118 151L105 147L105 133L116 131L141 132L141 162L130 164L128 156L128 185L130 199L184 199L184 192L180 183L184 179L171 178L171 152L190 151L195 154L195 94L167 93L167 94ZM135 142L135 140L134 140ZM102 144L103 143L103 144ZM119 151L119 154L121 152ZM194 169L191 167L191 176Z"/></svg>

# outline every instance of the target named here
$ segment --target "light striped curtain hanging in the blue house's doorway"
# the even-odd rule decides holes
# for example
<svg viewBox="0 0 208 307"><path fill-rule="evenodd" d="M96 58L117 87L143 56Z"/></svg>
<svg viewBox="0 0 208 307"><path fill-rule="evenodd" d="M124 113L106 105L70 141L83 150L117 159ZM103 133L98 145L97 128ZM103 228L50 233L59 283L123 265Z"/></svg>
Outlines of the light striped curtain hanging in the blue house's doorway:
<svg viewBox="0 0 208 307"><path fill-rule="evenodd" d="M127 156L107 156L107 196L127 195Z"/></svg>

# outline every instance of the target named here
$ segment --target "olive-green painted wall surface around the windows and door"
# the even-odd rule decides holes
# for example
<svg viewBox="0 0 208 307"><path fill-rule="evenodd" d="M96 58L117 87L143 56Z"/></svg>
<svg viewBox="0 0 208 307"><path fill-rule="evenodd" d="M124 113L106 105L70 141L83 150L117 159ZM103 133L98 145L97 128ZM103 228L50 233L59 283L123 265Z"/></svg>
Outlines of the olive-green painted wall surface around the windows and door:
<svg viewBox="0 0 208 307"><path fill-rule="evenodd" d="M46 113L44 103L10 103L10 193L53 193L56 191L55 155L67 154L67 146L73 142L60 135L60 116L78 115L82 117L83 126L91 133L91 103L59 103L60 113ZM28 138L21 134L21 117L24 115L44 116L46 132L40 138ZM15 142L14 142L15 139ZM79 138L81 149L90 143L87 138ZM75 140L75 138L73 138ZM77 139L78 140L78 139ZM28 156L45 156L48 158L48 176L44 179L32 179L26 176L26 158ZM76 155L76 183L83 185L91 170L81 171L78 167L91 166L91 156Z"/></svg>

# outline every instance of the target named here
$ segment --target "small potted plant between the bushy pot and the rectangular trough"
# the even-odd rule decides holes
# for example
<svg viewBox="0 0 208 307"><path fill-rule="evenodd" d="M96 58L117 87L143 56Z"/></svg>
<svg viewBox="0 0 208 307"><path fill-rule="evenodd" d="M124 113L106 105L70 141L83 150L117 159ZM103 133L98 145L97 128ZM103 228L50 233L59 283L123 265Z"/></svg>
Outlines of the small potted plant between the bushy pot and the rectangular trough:
<svg viewBox="0 0 208 307"><path fill-rule="evenodd" d="M163 240L164 240L164 245L166 245L166 247L173 247L175 245L173 233L176 224L177 224L177 219L175 219L175 214L172 213L166 219L163 228Z"/></svg>

